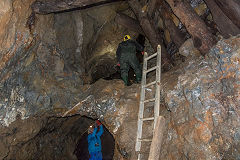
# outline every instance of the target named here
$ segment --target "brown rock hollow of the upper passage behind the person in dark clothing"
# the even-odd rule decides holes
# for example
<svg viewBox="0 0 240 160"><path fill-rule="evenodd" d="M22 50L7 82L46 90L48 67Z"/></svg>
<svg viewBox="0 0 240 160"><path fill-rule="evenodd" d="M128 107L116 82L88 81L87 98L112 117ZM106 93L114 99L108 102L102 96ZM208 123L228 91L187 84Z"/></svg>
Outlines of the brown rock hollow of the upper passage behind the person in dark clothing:
<svg viewBox="0 0 240 160"><path fill-rule="evenodd" d="M58 71L80 77L83 79L83 84L93 84L101 78L121 79L121 71L116 59L116 47L121 40L115 42L110 36L115 34L114 27L117 22L97 18L105 14L103 9L94 9L94 7L89 10L74 9L54 13L54 30L61 57ZM116 36L129 34L131 39L144 46L144 35L119 27L118 29ZM141 52L137 52L136 55L142 63ZM135 82L135 74L131 67L128 77L129 82Z"/></svg>

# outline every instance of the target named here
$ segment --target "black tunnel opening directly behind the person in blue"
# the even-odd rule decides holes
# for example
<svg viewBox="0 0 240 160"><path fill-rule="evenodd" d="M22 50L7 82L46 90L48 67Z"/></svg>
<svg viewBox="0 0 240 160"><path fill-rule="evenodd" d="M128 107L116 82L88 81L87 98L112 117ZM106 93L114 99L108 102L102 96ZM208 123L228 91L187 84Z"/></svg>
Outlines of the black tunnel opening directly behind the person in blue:
<svg viewBox="0 0 240 160"><path fill-rule="evenodd" d="M112 160L114 155L115 140L105 126L103 127L103 129L104 132L101 136L103 160ZM78 140L74 150L74 154L76 155L78 160L88 160L90 158L88 152L87 130L85 131L85 133L83 133L83 135L81 135L80 139Z"/></svg>

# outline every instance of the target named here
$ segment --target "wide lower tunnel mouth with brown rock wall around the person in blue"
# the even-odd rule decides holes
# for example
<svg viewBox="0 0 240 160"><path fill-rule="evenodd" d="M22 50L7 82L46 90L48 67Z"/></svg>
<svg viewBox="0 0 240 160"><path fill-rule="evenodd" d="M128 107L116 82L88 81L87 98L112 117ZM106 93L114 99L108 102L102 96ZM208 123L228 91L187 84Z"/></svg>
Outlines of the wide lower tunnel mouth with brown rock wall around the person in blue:
<svg viewBox="0 0 240 160"><path fill-rule="evenodd" d="M39 129L34 137L27 142L14 146L11 154L6 159L44 159L44 160L88 160L87 130L95 120L73 115L69 117L39 117L17 124L24 129ZM15 132L23 134L21 128ZM30 131L31 132L31 131ZM27 134L26 134L27 136ZM111 133L104 127L101 136L102 153L104 160L113 159L115 140Z"/></svg>

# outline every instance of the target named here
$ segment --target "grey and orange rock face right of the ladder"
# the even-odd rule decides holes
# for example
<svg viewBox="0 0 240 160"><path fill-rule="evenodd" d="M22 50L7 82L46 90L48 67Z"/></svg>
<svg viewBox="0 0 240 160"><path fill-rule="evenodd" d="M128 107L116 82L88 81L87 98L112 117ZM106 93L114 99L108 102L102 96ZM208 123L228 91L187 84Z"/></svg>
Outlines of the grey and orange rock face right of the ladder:
<svg viewBox="0 0 240 160"><path fill-rule="evenodd" d="M239 159L239 40L220 41L165 90L172 112L162 158Z"/></svg>

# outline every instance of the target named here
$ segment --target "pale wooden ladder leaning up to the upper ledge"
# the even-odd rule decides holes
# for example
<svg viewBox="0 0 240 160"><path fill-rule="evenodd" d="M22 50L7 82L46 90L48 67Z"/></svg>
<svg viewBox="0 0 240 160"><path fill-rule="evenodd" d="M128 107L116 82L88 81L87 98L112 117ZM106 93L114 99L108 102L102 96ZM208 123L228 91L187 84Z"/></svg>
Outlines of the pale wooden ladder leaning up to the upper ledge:
<svg viewBox="0 0 240 160"><path fill-rule="evenodd" d="M157 57L156 66L148 69L148 61L154 57ZM147 84L147 73L156 70L156 79L153 82ZM138 160L141 159L141 145L142 142L152 142L152 138L143 139L143 122L153 121L154 127L156 127L157 119L159 117L160 110L160 79L161 79L161 46L158 45L157 52L151 56L148 56L147 53L144 53L144 62L143 62L143 74L142 74L142 83L141 83L141 97L140 97L140 105L139 105L139 113L138 113L138 129L137 129L137 140L135 145L135 151L137 153ZM147 87L155 85L155 97L151 99L145 99L146 89ZM144 106L148 102L154 102L154 116L144 118ZM154 131L154 130L153 130ZM152 131L152 132L153 132Z"/></svg>

